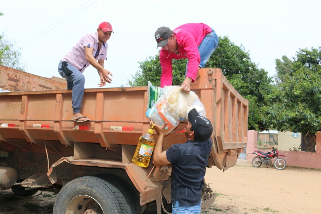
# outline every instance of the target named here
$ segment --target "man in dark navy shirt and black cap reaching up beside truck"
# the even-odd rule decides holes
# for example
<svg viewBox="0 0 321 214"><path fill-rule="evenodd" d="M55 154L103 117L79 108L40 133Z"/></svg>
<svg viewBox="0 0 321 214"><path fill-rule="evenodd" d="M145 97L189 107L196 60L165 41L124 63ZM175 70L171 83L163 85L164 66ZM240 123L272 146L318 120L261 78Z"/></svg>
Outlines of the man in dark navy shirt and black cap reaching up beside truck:
<svg viewBox="0 0 321 214"><path fill-rule="evenodd" d="M158 134L154 150L153 164L156 166L172 164L172 214L201 212L201 194L208 157L211 154L213 127L209 119L200 116L195 108L188 113L185 135L187 141L173 144L162 152L164 129L154 124Z"/></svg>

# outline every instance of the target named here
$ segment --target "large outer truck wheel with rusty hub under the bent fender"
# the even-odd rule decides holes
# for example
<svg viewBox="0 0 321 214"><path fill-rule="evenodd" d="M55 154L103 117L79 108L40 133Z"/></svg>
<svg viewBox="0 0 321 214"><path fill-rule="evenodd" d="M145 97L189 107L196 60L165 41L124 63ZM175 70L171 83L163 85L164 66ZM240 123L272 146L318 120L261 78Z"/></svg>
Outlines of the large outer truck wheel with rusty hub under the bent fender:
<svg viewBox="0 0 321 214"><path fill-rule="evenodd" d="M107 181L92 176L76 178L59 192L54 214L129 214L124 196Z"/></svg>

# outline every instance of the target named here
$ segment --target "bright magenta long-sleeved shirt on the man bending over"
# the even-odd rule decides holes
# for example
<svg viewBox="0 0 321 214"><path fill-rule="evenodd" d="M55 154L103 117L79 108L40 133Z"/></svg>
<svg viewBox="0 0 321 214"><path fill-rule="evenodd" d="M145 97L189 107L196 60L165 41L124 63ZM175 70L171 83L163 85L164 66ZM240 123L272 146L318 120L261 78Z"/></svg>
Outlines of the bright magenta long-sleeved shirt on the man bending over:
<svg viewBox="0 0 321 214"><path fill-rule="evenodd" d="M179 54L170 53L160 49L160 66L162 73L160 76L160 86L172 85L172 59L188 58L187 77L195 81L200 64L201 57L198 52L198 46L203 41L206 34L212 32L212 29L203 23L183 24L175 28L174 34L178 43Z"/></svg>

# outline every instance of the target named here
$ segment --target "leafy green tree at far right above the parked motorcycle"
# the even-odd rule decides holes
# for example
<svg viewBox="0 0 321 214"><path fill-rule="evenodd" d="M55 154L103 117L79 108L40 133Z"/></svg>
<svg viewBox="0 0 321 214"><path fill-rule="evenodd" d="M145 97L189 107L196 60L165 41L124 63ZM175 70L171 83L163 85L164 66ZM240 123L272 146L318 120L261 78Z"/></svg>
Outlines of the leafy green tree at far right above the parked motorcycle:
<svg viewBox="0 0 321 214"><path fill-rule="evenodd" d="M307 133L308 145L308 135L313 139L321 130L321 47L300 49L287 69L287 78L268 96L268 119L278 130Z"/></svg>

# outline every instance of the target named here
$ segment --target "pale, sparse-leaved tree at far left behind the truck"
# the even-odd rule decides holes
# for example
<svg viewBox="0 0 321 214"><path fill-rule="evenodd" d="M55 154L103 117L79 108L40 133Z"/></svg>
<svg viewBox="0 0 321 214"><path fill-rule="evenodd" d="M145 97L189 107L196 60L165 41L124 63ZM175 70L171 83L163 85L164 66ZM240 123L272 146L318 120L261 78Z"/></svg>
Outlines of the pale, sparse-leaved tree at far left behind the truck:
<svg viewBox="0 0 321 214"><path fill-rule="evenodd" d="M0 12L0 16L3 13ZM4 34L0 35L0 65L24 71L24 65L20 61L20 48L14 47L15 42Z"/></svg>

